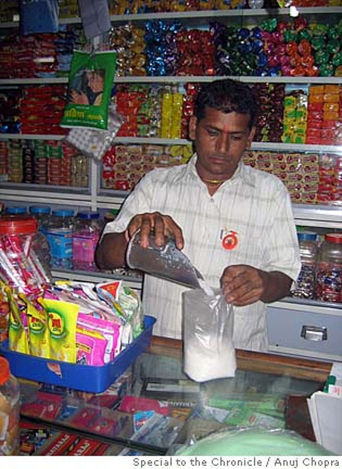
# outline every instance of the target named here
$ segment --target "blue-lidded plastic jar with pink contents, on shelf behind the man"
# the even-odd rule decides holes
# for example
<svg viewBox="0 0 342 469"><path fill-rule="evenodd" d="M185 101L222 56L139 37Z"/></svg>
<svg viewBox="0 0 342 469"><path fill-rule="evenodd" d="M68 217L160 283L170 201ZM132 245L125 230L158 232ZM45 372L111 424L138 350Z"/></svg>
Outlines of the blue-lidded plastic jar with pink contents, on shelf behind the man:
<svg viewBox="0 0 342 469"><path fill-rule="evenodd" d="M98 212L78 212L72 235L72 263L75 270L97 270L94 252L101 229Z"/></svg>

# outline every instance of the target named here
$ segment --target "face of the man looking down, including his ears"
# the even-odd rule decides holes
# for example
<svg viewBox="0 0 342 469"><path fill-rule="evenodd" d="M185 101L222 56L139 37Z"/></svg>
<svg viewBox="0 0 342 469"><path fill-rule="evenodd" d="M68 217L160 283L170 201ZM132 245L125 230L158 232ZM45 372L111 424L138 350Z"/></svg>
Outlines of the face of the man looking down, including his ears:
<svg viewBox="0 0 342 469"><path fill-rule="evenodd" d="M250 148L255 128L249 130L249 114L222 113L205 108L205 117L190 118L189 135L195 140L198 174L204 179L229 179Z"/></svg>

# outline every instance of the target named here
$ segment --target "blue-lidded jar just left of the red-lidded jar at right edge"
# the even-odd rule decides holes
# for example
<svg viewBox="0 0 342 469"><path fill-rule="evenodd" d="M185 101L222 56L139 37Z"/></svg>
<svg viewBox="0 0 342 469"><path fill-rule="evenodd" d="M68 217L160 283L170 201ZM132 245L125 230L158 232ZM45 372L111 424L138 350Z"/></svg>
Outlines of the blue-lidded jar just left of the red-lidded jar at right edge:
<svg viewBox="0 0 342 469"><path fill-rule="evenodd" d="M302 267L296 281L296 290L292 295L313 299L315 296L316 267L319 251L317 233L301 231L297 233L297 236Z"/></svg>

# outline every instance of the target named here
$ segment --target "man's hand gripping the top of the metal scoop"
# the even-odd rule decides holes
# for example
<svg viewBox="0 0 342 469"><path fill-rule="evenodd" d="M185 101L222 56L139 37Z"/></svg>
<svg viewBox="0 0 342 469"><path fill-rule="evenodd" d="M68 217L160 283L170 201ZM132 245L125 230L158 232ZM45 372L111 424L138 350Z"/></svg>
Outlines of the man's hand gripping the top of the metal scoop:
<svg viewBox="0 0 342 469"><path fill-rule="evenodd" d="M127 227L129 238L131 238L138 229L140 229L139 240L142 248L147 248L150 232L154 230L154 242L156 246L163 246L165 244L165 236L172 236L175 238L177 248L183 249L184 239L182 229L169 215L163 215L160 212L135 215L130 220Z"/></svg>

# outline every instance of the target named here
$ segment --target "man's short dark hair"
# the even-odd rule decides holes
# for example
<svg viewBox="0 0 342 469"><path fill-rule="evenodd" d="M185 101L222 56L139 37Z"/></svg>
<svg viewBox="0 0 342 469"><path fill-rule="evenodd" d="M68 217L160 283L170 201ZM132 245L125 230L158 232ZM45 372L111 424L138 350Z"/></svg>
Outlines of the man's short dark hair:
<svg viewBox="0 0 342 469"><path fill-rule="evenodd" d="M249 114L249 129L252 128L258 110L253 89L246 83L226 78L215 80L202 86L195 103L195 116L198 121L205 117L205 106L228 114L232 112Z"/></svg>

